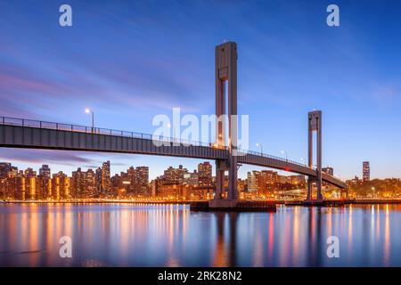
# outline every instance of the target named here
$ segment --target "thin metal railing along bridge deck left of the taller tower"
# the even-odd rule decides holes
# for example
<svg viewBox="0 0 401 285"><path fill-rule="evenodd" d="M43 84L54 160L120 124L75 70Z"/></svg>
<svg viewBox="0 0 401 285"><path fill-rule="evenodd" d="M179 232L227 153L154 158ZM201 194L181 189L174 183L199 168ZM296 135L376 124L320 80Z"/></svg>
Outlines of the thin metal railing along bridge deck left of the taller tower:
<svg viewBox="0 0 401 285"><path fill-rule="evenodd" d="M0 125L27 126L27 127L36 127L36 128L52 129L52 130L59 130L59 131L70 131L70 132L85 133L85 134L116 135L116 136L124 136L124 137L129 137L129 138L152 140L154 142L169 142L169 143L176 143L176 144L184 144L184 145L188 145L188 146L194 145L194 146L214 147L214 144L212 144L210 142L198 142L198 141L184 140L184 139L179 139L179 138L175 138L175 137L168 137L168 136L155 135L155 134L136 133L136 132L115 130L115 129L102 128L102 127L71 125L71 124L55 123L55 122L49 122L49 121L32 120L32 119L26 119L26 118L11 118L11 117L0 116ZM225 147L225 146L218 146L217 148L227 150L227 147Z"/></svg>

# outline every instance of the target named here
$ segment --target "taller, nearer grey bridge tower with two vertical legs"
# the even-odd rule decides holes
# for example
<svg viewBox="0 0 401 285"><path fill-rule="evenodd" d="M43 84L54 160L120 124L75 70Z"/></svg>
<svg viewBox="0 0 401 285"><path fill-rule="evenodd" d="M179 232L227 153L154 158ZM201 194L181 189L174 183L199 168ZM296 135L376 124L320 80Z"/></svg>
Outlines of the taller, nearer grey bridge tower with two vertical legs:
<svg viewBox="0 0 401 285"><path fill-rule="evenodd" d="M225 145L225 116L228 112L228 161L216 161L216 199L222 198L225 170L228 170L228 199L237 199L237 44L217 45L216 50L216 138L217 145ZM225 97L226 94L226 97ZM227 106L225 104L227 101ZM234 116L233 116L234 115Z"/></svg>

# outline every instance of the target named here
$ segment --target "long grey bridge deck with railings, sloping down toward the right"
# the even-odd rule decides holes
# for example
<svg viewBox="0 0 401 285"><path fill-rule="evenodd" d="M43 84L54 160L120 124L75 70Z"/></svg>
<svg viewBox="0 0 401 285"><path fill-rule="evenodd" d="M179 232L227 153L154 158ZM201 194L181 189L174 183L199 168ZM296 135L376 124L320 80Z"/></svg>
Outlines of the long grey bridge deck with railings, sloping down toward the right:
<svg viewBox="0 0 401 285"><path fill-rule="evenodd" d="M153 142L164 142L156 146ZM174 143L173 143L174 142ZM21 118L0 117L0 147L64 151L98 151L171 156L193 159L228 159L226 148L204 142L174 141L151 134L76 126ZM300 175L316 176L316 171L289 159L242 151L238 163L270 167ZM323 173L323 182L347 188L340 179Z"/></svg>

